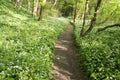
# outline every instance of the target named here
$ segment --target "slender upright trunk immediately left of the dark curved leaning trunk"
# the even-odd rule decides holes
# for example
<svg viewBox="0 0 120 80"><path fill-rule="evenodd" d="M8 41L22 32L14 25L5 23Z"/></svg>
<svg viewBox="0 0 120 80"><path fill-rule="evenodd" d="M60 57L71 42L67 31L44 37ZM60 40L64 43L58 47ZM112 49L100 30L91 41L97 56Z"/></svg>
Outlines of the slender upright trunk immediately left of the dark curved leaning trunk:
<svg viewBox="0 0 120 80"><path fill-rule="evenodd" d="M80 36L82 36L84 31L85 31L84 28L85 28L85 23L86 23L86 15L87 15L87 12L88 12L88 3L89 3L89 0L86 0L85 11L84 11L84 14L83 14L83 24L82 24L82 29L81 29Z"/></svg>

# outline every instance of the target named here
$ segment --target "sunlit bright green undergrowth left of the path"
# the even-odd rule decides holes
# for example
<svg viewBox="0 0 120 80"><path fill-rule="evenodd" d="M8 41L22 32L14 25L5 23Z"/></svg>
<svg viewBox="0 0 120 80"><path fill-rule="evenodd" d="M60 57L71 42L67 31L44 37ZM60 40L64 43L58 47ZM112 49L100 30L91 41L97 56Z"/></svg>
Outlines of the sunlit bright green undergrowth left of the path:
<svg viewBox="0 0 120 80"><path fill-rule="evenodd" d="M0 80L50 80L55 40L67 21L39 22L10 1L0 4Z"/></svg>

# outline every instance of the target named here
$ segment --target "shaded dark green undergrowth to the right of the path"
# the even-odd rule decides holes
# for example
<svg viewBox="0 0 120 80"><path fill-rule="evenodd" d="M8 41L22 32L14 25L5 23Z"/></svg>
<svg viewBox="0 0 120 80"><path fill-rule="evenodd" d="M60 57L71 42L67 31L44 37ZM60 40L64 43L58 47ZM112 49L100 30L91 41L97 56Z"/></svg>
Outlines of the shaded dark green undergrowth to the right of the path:
<svg viewBox="0 0 120 80"><path fill-rule="evenodd" d="M92 80L120 80L120 29L111 28L84 38L79 37L81 24L76 24L74 36L80 50L82 67Z"/></svg>

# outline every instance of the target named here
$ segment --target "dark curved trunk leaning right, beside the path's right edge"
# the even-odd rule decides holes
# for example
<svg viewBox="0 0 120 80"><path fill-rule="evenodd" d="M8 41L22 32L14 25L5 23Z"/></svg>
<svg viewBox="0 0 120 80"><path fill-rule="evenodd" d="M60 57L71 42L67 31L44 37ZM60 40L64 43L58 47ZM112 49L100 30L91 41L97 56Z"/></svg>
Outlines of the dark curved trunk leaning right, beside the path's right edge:
<svg viewBox="0 0 120 80"><path fill-rule="evenodd" d="M94 16L93 18L91 19L91 22L90 22L90 26L89 28L87 29L87 31L82 35L83 37L86 36L88 33L90 33L96 23L96 17L97 17L97 14L98 14L98 11L99 11L99 8L101 6L101 3L102 3L102 0L98 0L97 1L97 6L95 8L95 11L94 11Z"/></svg>

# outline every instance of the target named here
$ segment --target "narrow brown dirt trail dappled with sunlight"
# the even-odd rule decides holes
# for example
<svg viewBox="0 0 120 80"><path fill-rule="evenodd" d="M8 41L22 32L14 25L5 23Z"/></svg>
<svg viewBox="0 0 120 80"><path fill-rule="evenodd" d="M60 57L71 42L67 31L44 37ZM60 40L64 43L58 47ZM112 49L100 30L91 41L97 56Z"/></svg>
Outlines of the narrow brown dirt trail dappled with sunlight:
<svg viewBox="0 0 120 80"><path fill-rule="evenodd" d="M89 80L80 70L72 32L69 25L56 42L52 80Z"/></svg>

